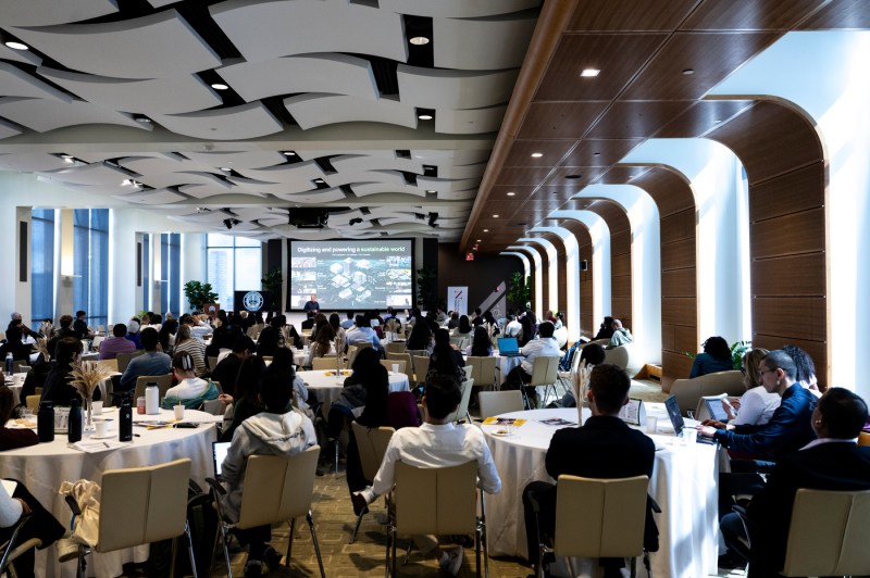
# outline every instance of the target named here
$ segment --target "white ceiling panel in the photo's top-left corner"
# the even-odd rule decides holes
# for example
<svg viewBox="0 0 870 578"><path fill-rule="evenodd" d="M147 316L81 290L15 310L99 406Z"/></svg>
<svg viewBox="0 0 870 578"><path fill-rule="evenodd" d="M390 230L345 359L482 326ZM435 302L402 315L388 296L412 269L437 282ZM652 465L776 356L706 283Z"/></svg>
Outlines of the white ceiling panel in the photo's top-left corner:
<svg viewBox="0 0 870 578"><path fill-rule="evenodd" d="M113 0L0 0L3 26L51 26L115 12Z"/></svg>

